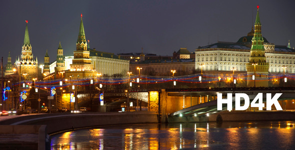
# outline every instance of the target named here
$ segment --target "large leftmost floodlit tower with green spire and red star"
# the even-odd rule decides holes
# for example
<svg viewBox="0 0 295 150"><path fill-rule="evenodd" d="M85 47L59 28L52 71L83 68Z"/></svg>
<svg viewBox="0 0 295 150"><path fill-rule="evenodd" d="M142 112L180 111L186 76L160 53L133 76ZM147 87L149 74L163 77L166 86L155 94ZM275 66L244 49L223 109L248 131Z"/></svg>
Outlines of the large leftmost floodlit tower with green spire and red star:
<svg viewBox="0 0 295 150"><path fill-rule="evenodd" d="M8 55L10 57L10 54ZM10 58L11 61L11 58ZM37 76L38 71L38 59L33 58L32 46L29 41L27 21L25 25L24 40L21 46L21 55L15 61L18 72L21 74L26 73L26 78L31 79L33 76Z"/></svg>

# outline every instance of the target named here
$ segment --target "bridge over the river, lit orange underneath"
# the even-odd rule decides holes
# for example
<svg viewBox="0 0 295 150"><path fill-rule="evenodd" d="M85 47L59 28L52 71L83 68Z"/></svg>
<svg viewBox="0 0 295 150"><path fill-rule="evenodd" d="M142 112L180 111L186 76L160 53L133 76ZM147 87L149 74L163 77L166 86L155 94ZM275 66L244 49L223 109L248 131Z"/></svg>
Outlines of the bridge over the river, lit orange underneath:
<svg viewBox="0 0 295 150"><path fill-rule="evenodd" d="M147 102L147 109L149 111L156 111L160 117L161 122L166 121L207 121L204 117L217 111L217 93L222 93L223 98L227 93L233 93L233 101L235 99L234 93L246 93L250 101L254 99L257 93L263 93L263 100L265 102L265 94L282 93L278 102L284 110L295 109L295 88L294 87L240 87L240 88L170 88L170 89L156 89L149 91L133 91L129 93L129 98L141 98ZM110 92L105 95L120 95L125 96L124 92ZM243 100L241 100L243 104ZM233 102L234 107L234 102ZM226 105L223 105L226 109ZM247 109L247 111L254 111L256 109ZM265 108L264 108L265 110ZM168 118L176 118L179 115L184 117L193 117L194 119L175 120ZM196 117L196 116L197 117ZM216 120L216 119L215 119Z"/></svg>

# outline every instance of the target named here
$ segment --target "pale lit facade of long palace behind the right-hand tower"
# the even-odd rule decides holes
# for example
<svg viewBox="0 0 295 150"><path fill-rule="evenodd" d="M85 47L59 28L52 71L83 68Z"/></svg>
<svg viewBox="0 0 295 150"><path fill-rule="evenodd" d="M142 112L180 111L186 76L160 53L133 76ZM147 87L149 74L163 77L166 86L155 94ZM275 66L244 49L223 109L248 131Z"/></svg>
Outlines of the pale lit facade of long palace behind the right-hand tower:
<svg viewBox="0 0 295 150"><path fill-rule="evenodd" d="M266 52L266 62L269 62L269 72L295 73L295 54ZM207 50L195 51L195 68L202 70L246 71L246 63L250 57L247 51ZM286 66L286 67L284 67Z"/></svg>

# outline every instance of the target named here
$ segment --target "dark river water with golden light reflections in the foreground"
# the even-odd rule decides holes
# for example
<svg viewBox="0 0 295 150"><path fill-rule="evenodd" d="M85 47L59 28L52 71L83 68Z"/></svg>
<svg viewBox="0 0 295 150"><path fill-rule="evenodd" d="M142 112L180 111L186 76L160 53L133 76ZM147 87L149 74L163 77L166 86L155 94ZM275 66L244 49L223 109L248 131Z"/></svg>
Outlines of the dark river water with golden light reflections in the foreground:
<svg viewBox="0 0 295 150"><path fill-rule="evenodd" d="M295 122L133 124L51 136L51 149L292 149Z"/></svg>

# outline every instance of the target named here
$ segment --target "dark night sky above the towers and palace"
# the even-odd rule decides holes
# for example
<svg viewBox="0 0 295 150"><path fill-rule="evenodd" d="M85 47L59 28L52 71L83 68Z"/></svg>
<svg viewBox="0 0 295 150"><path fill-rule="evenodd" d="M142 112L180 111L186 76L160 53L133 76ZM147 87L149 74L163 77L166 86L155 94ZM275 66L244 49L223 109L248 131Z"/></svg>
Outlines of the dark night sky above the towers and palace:
<svg viewBox="0 0 295 150"><path fill-rule="evenodd" d="M172 55L180 47L193 52L219 41L236 42L251 30L256 5L262 35L271 43L295 47L294 0L2 0L0 56L12 62L21 54L25 20L34 57L56 59L75 50L80 14L90 47L117 53Z"/></svg>

